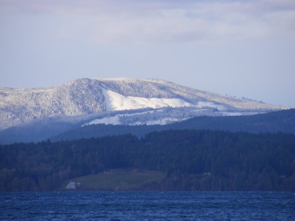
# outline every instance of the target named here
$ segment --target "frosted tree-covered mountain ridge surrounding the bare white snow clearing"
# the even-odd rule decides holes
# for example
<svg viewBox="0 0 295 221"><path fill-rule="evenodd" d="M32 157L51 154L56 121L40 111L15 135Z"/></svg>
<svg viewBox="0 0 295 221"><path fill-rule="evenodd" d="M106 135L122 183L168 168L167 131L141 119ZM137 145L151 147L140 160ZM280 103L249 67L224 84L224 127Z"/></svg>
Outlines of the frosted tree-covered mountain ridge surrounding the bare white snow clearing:
<svg viewBox="0 0 295 221"><path fill-rule="evenodd" d="M282 107L216 95L159 79L81 78L51 88L0 88L0 129L42 117L106 111L103 89L124 96L177 98L193 105L214 102L233 109L280 110Z"/></svg>

